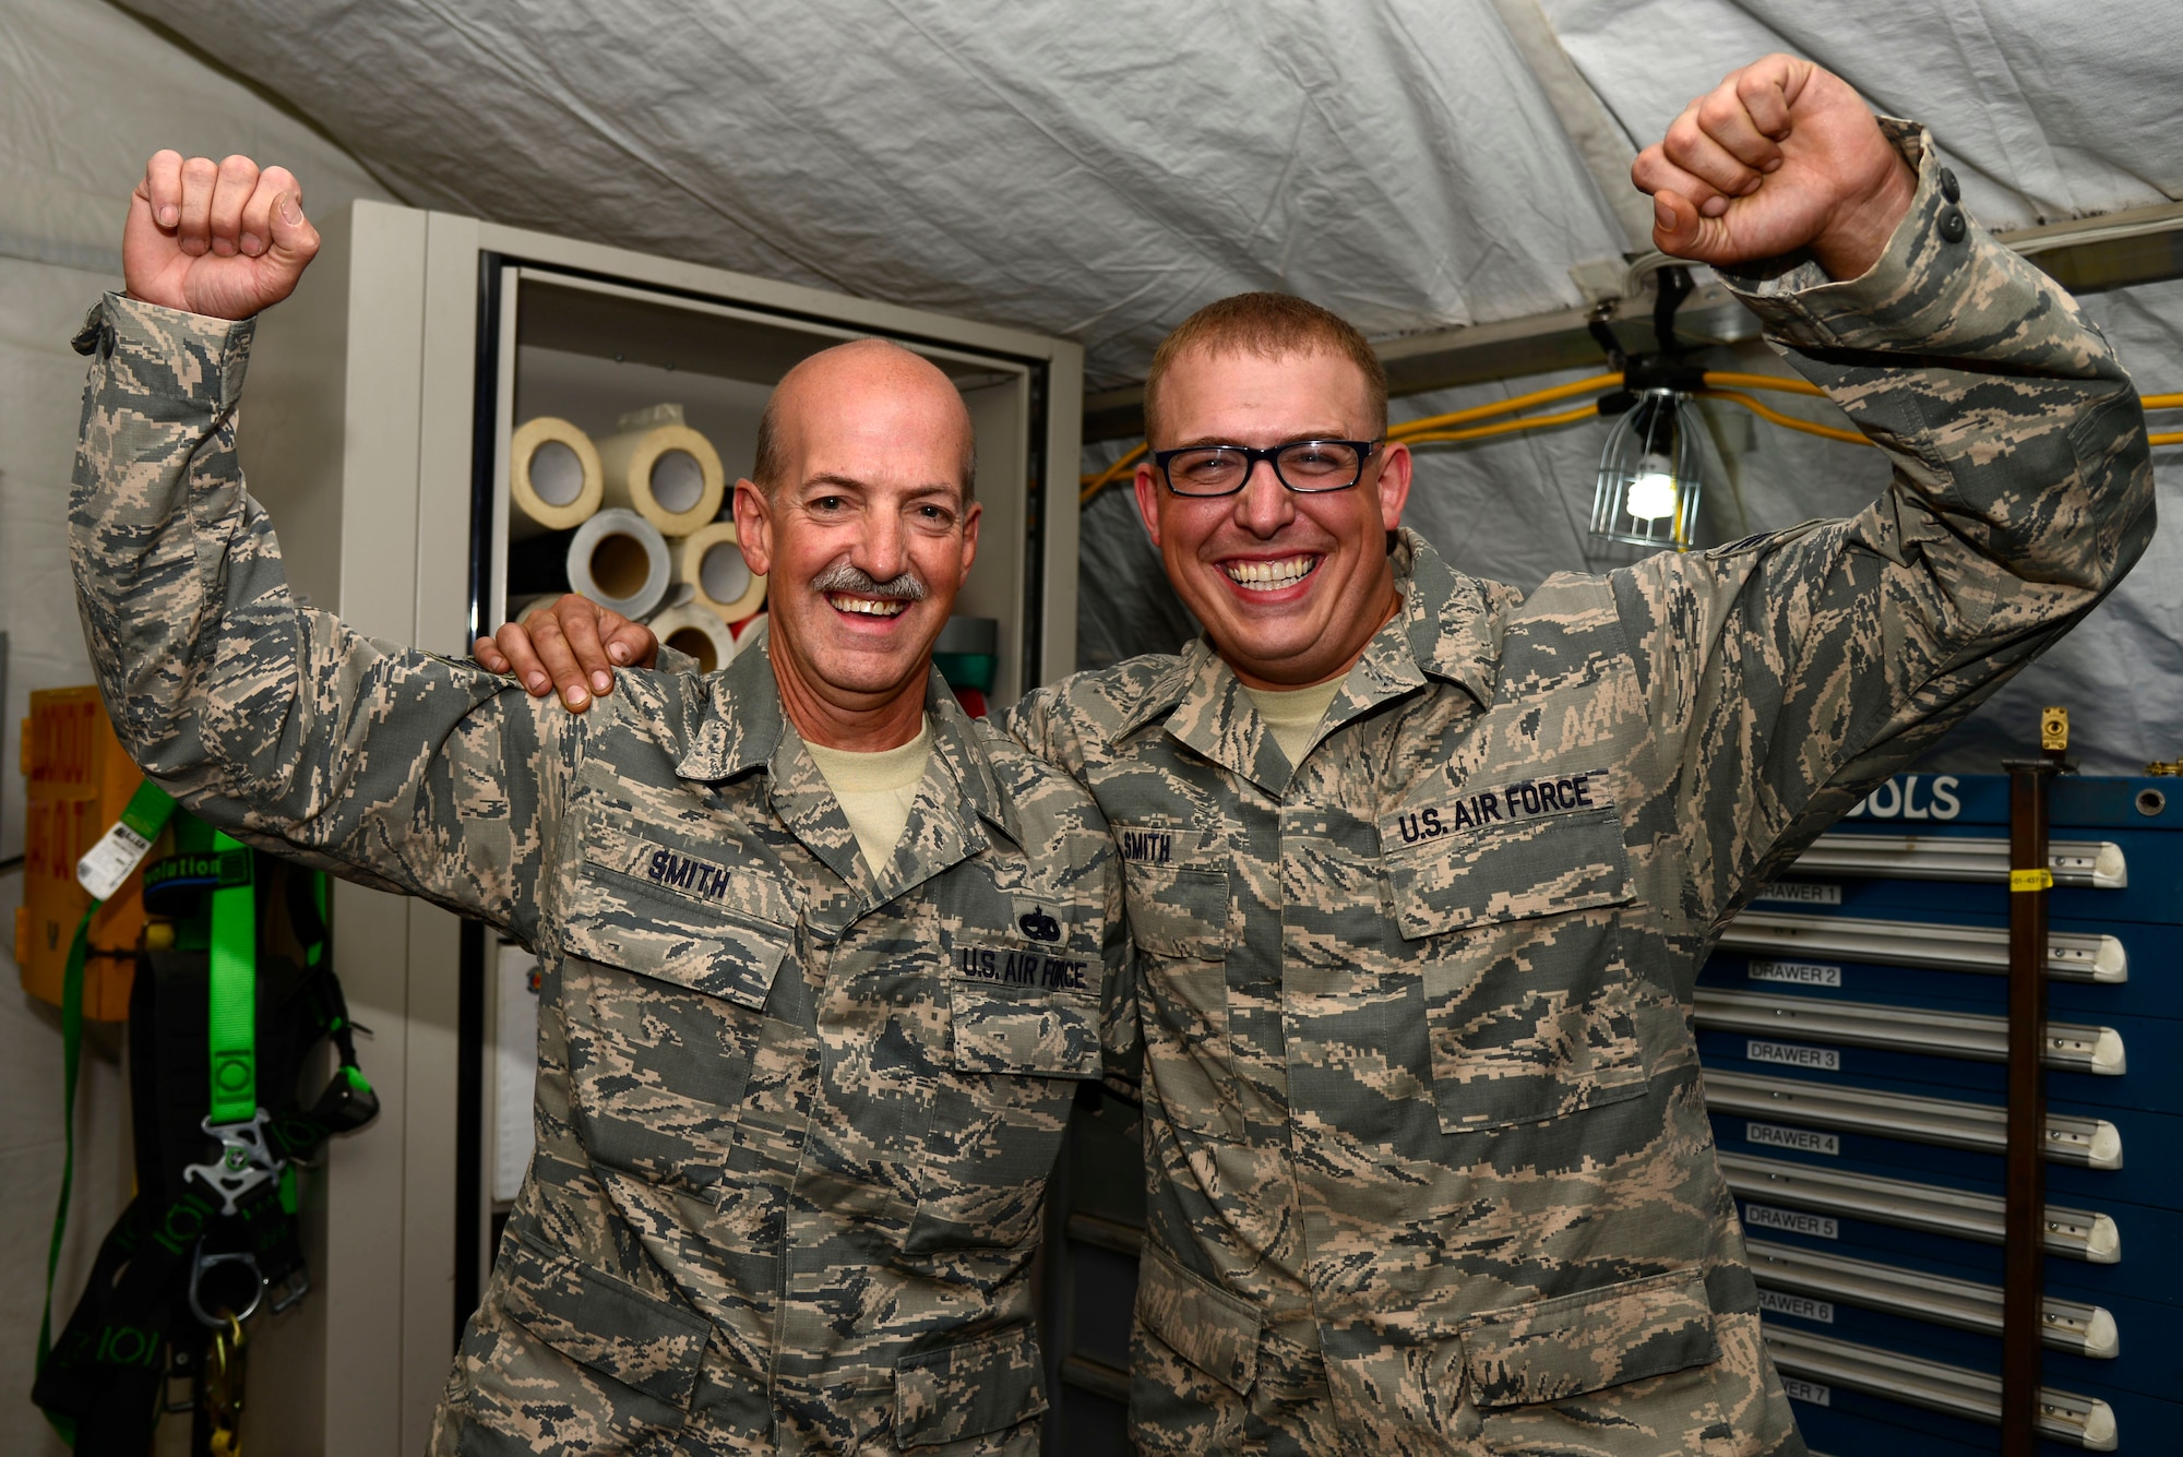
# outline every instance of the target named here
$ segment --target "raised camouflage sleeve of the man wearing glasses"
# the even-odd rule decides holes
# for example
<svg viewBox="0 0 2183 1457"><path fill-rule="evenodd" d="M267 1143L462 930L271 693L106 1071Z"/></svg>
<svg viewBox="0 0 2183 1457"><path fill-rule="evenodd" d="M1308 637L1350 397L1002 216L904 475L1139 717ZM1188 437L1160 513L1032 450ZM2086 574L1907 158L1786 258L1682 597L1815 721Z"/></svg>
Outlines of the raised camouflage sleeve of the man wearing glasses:
<svg viewBox="0 0 2183 1457"><path fill-rule="evenodd" d="M1860 279L1729 279L1768 340L1893 462L1862 515L1613 574L1709 931L2122 580L2152 537L2135 388L2069 294L1947 196Z"/></svg>

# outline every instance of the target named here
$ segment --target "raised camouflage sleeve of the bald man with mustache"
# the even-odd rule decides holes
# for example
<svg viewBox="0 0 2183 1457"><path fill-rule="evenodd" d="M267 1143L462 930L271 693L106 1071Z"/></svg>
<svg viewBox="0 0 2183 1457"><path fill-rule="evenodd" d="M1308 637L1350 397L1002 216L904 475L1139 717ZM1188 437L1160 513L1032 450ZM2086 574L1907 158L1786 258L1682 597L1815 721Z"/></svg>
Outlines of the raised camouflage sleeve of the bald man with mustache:
<svg viewBox="0 0 2183 1457"><path fill-rule="evenodd" d="M107 713L151 779L236 838L533 940L581 731L509 678L290 595L236 460L249 342L249 321L116 294L76 338L70 558Z"/></svg>

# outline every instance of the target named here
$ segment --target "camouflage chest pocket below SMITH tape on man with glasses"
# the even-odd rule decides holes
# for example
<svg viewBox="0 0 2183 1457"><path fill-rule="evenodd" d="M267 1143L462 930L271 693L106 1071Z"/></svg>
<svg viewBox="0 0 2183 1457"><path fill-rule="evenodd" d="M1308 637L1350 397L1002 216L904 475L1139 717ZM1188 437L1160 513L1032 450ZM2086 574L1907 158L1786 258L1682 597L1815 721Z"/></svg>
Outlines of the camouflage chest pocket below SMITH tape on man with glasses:
<svg viewBox="0 0 2183 1457"><path fill-rule="evenodd" d="M1146 1077L1177 1128L1242 1139L1229 1047L1229 872L1205 831L1113 827L1144 968Z"/></svg>

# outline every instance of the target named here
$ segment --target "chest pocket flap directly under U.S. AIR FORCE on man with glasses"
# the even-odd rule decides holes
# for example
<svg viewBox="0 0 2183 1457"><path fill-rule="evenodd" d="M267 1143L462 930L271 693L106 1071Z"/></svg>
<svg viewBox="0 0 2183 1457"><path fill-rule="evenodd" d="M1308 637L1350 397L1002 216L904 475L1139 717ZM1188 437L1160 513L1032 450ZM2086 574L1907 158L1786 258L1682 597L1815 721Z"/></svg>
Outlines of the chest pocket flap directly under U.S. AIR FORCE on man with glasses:
<svg viewBox="0 0 2183 1457"><path fill-rule="evenodd" d="M1633 896L1611 805L1393 846L1386 870L1395 920L1410 940Z"/></svg>

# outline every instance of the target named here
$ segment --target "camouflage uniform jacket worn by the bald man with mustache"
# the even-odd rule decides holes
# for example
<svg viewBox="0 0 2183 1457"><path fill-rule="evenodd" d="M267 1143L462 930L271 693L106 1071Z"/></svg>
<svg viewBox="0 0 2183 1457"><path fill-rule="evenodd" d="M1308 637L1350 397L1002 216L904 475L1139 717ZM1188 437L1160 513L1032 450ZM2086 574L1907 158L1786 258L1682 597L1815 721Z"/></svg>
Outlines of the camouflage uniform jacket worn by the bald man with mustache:
<svg viewBox="0 0 2183 1457"><path fill-rule="evenodd" d="M1133 1036L1092 800L934 674L875 870L764 652L576 718L303 609L236 465L249 338L94 312L79 598L186 805L539 949L537 1156L439 1446L1035 1450L1043 1187Z"/></svg>

